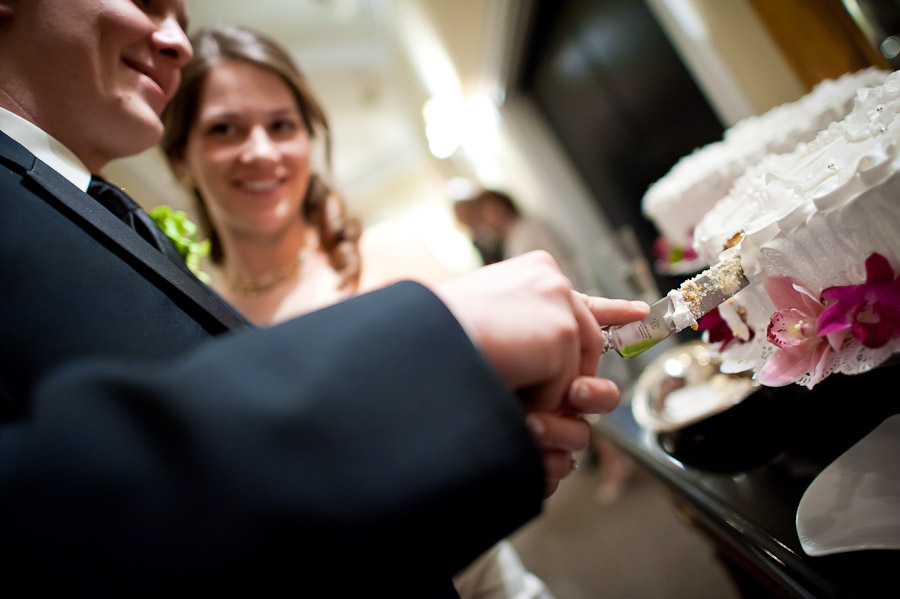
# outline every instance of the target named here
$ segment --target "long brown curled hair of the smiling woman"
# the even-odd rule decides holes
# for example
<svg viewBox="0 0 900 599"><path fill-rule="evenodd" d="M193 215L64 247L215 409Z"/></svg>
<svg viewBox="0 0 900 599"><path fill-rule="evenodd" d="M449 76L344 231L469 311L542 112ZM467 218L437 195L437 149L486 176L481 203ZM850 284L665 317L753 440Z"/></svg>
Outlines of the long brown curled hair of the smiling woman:
<svg viewBox="0 0 900 599"><path fill-rule="evenodd" d="M176 161L184 159L188 134L197 118L197 104L206 75L229 59L272 71L287 83L297 100L310 138L322 136L325 157L330 161L331 132L325 112L296 63L275 42L246 27L217 25L195 33L191 44L194 57L181 69L181 85L162 115L165 131L161 146L173 167ZM197 201L200 226L210 238L210 258L221 264L224 251L219 235L212 225L200 191L196 187L192 191ZM343 281L355 281L359 277L359 223L347 216L341 197L321 176L312 172L301 211L302 217L315 227L322 249Z"/></svg>

